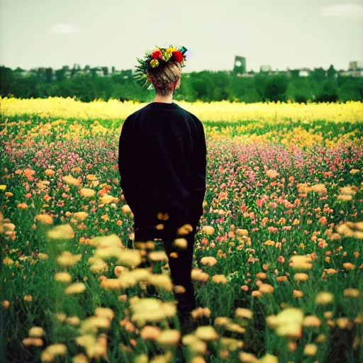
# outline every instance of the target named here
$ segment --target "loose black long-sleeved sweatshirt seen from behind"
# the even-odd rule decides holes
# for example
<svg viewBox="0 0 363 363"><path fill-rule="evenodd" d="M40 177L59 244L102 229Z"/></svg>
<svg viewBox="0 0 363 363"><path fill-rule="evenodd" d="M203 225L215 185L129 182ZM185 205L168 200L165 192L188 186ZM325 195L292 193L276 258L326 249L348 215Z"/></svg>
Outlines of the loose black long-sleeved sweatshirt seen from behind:
<svg viewBox="0 0 363 363"><path fill-rule="evenodd" d="M199 118L152 102L125 119L118 144L120 186L135 223L199 223L206 193L206 138Z"/></svg>

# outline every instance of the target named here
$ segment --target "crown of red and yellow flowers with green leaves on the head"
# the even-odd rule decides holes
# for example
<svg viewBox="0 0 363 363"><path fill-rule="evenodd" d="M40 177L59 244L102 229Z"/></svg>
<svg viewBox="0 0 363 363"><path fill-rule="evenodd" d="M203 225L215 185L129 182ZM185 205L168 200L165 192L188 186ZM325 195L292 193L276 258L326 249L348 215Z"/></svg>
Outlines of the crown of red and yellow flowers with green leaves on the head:
<svg viewBox="0 0 363 363"><path fill-rule="evenodd" d="M184 67L184 61L186 60L185 47L176 47L169 45L169 48L160 48L155 46L154 50L148 50L145 52L145 58L141 60L136 58L140 65L136 66L135 80L141 86L148 86L147 89L152 89L152 83L147 77L147 71L151 71L157 67L162 67L162 65L168 62L179 62L181 67Z"/></svg>

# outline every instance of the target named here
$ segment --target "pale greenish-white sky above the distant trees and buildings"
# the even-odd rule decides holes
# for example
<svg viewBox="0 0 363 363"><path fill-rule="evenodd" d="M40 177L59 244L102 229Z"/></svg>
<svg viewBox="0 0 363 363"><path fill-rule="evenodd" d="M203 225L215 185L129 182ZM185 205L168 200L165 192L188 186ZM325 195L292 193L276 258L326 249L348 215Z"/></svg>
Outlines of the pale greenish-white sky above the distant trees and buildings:
<svg viewBox="0 0 363 363"><path fill-rule="evenodd" d="M135 69L184 45L184 72L363 63L363 0L0 0L0 65Z"/></svg>

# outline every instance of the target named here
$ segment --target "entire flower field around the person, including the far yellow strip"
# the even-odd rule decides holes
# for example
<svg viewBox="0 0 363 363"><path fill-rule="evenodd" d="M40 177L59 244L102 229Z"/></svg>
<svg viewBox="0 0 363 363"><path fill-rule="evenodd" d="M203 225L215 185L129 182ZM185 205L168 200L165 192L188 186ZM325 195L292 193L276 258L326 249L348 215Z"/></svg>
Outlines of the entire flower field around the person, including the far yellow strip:
<svg viewBox="0 0 363 363"><path fill-rule="evenodd" d="M1 100L0 362L363 362L362 104L185 104L208 185L183 336L119 186L141 106Z"/></svg>

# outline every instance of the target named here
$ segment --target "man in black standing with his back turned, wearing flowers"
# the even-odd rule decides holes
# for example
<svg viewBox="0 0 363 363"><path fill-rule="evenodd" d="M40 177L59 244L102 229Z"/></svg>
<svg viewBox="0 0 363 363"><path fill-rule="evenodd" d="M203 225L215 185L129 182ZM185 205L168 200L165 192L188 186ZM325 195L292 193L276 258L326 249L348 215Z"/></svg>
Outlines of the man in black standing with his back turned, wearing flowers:
<svg viewBox="0 0 363 363"><path fill-rule="evenodd" d="M183 61L175 48L157 48L149 55L145 74L155 87L155 99L125 119L118 147L121 188L134 215L135 243L162 239L173 284L179 286L175 298L181 323L196 308L191 267L203 214L207 155L203 124L173 102ZM188 234L180 233L183 226ZM174 245L177 238L186 240L186 248Z"/></svg>

